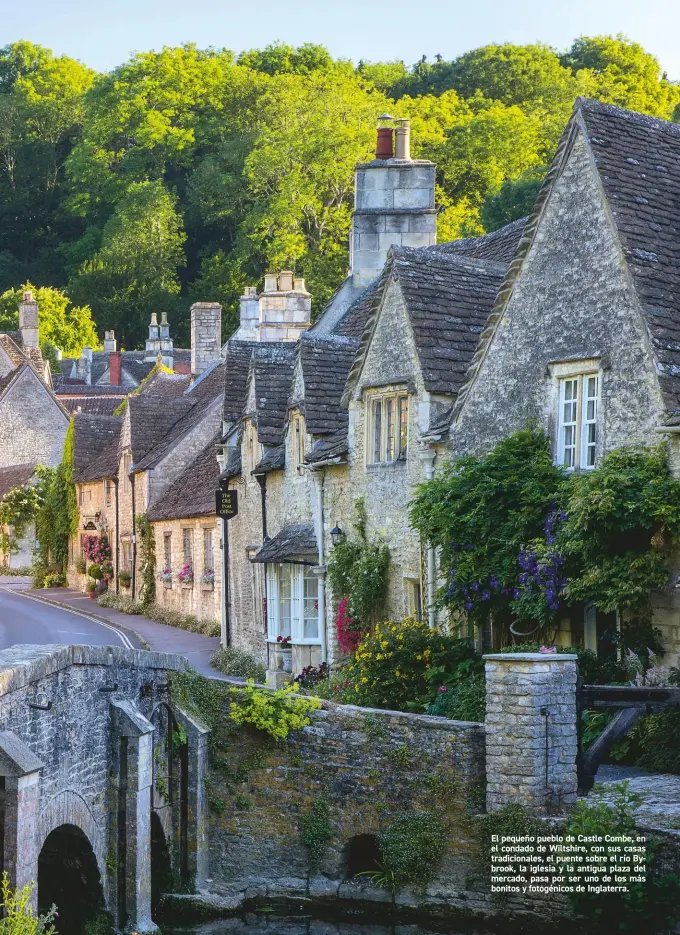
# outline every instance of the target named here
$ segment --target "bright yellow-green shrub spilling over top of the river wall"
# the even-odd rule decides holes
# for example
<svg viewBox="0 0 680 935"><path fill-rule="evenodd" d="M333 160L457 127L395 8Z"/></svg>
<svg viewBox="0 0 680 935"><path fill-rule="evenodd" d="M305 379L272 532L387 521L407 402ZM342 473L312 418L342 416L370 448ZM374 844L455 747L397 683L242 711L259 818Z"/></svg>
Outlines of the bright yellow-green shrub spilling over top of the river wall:
<svg viewBox="0 0 680 935"><path fill-rule="evenodd" d="M249 681L243 688L232 688L229 717L239 726L252 724L275 740L285 740L291 730L311 724L309 714L321 707L318 698L294 694L292 685L278 691L256 688Z"/></svg>

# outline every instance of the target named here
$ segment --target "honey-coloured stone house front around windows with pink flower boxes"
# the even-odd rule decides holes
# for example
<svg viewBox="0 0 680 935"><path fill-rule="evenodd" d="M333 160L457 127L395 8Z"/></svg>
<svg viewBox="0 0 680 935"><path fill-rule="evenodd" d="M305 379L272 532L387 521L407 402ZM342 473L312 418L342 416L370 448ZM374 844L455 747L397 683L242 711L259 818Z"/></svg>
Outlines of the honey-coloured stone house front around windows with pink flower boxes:
<svg viewBox="0 0 680 935"><path fill-rule="evenodd" d="M184 530L193 535L193 585L182 585L177 574L184 567ZM206 564L204 556L204 531L212 532L212 567L215 574L214 585L201 584L201 575ZM220 595L222 589L222 551L220 549L220 522L214 516L194 517L191 519L161 520L153 523L156 542L156 603L161 607L177 610L182 614L194 614L201 620L220 619ZM170 586L159 579L165 568L165 537L170 534L171 571L173 580Z"/></svg>

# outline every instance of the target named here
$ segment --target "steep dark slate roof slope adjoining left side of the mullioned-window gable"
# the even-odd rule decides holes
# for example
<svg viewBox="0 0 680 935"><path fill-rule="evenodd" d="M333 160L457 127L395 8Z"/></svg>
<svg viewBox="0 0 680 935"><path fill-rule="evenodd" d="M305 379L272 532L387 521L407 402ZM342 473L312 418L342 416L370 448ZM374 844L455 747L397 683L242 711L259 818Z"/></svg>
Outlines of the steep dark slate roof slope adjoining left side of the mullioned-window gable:
<svg viewBox="0 0 680 935"><path fill-rule="evenodd" d="M346 430L347 411L340 404L358 349L355 338L314 334L300 337L298 360L304 381L300 408L310 435L331 435L343 427Z"/></svg>

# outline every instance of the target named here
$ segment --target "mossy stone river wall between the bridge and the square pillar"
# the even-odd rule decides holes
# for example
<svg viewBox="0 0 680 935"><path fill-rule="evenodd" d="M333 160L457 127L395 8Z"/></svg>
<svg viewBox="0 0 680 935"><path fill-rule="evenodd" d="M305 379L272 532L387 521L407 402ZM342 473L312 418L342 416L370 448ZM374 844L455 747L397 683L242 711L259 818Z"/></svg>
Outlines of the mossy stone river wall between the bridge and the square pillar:
<svg viewBox="0 0 680 935"><path fill-rule="evenodd" d="M486 905L472 818L483 805L483 725L325 702L311 726L285 742L261 743L238 729L226 755L232 777L242 781L227 785L215 776L211 783L221 810L210 819L211 892L233 904L265 895L384 902L384 890L348 881L350 842L403 812L431 811L455 844L425 903ZM300 821L322 799L332 837L313 872ZM399 901L423 903L409 892Z"/></svg>

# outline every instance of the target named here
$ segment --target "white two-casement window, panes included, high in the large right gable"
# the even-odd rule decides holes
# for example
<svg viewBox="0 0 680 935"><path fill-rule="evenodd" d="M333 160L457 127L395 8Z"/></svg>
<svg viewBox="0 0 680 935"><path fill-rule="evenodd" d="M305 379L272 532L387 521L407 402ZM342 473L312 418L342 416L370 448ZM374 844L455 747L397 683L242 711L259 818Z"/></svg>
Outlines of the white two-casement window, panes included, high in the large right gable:
<svg viewBox="0 0 680 935"><path fill-rule="evenodd" d="M600 377L579 373L559 381L557 462L568 470L595 467Z"/></svg>

